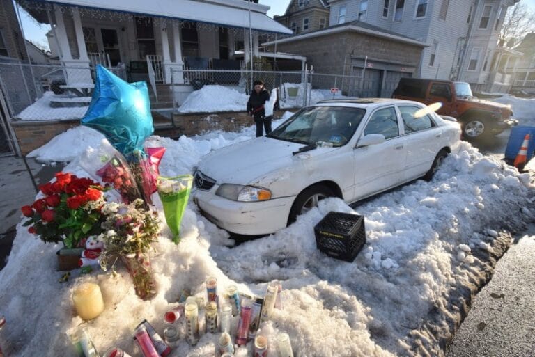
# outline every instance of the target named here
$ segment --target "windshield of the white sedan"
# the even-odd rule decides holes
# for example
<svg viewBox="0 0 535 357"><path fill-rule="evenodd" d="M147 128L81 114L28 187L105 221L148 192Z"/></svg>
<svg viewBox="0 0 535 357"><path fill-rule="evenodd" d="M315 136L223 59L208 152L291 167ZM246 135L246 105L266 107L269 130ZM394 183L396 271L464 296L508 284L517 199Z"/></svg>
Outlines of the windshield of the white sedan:
<svg viewBox="0 0 535 357"><path fill-rule="evenodd" d="M304 108L267 136L303 144L332 143L346 145L355 134L365 109L345 106Z"/></svg>

